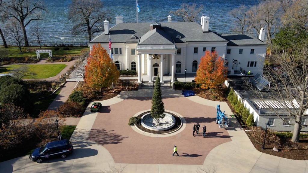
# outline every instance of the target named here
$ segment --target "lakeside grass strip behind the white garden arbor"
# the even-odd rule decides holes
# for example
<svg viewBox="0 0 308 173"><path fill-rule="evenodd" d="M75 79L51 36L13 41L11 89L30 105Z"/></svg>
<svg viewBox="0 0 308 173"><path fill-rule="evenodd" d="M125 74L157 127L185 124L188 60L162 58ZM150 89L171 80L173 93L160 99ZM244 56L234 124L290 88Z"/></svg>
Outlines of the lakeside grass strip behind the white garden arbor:
<svg viewBox="0 0 308 173"><path fill-rule="evenodd" d="M39 47L29 47L22 48L22 53L18 47L9 47L7 50L9 51L9 57L36 57L35 49L39 49ZM69 47L70 50L63 50L63 47L60 47L60 50L54 50L55 47L42 47L45 50L52 50L52 56L79 56L80 51L83 49L89 49L88 47ZM41 53L41 58L48 58L48 53Z"/></svg>

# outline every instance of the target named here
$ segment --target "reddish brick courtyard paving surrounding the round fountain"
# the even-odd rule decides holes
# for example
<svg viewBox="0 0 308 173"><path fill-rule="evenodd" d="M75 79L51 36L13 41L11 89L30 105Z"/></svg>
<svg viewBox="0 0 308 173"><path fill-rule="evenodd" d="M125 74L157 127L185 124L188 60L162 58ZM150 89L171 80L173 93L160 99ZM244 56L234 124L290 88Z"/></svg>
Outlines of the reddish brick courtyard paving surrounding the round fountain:
<svg viewBox="0 0 308 173"><path fill-rule="evenodd" d="M137 112L151 109L151 99L152 97L130 97L103 107L88 139L105 147L115 163L191 165L202 165L214 147L231 141L228 132L215 123L215 107L201 105L184 97L163 98L165 109L185 118L187 125L184 131L162 138L135 132L127 124L128 119ZM192 129L196 123L200 123L201 127L206 125L206 138L202 137L202 128L199 130L201 134L193 137ZM173 145L178 147L180 157L171 156Z"/></svg>

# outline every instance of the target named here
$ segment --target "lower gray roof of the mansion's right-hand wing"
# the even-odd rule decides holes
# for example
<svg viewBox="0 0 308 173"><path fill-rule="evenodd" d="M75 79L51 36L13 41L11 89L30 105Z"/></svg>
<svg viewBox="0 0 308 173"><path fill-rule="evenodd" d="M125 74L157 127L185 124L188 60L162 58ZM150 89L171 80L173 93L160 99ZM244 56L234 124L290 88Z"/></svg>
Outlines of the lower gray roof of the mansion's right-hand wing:
<svg viewBox="0 0 308 173"><path fill-rule="evenodd" d="M218 34L222 38L228 40L228 46L239 46L239 45L267 45L257 38L249 34Z"/></svg>

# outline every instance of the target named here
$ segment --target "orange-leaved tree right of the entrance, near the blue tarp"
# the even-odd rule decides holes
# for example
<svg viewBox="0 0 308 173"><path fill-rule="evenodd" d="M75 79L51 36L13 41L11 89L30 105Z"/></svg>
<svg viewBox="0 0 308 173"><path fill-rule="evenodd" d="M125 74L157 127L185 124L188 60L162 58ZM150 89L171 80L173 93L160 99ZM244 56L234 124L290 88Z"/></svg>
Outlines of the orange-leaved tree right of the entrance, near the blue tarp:
<svg viewBox="0 0 308 173"><path fill-rule="evenodd" d="M205 55L201 57L197 76L195 76L196 83L200 84L201 88L210 88L210 92L212 88L218 88L218 84L227 79L228 67L225 67L224 60L217 56L216 51L205 51Z"/></svg>

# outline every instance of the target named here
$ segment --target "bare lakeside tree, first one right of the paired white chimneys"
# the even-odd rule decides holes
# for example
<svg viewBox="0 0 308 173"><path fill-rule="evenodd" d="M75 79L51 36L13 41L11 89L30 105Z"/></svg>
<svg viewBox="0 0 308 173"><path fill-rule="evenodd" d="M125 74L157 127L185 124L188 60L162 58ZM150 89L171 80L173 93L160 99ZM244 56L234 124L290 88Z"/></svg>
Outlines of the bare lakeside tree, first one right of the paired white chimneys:
<svg viewBox="0 0 308 173"><path fill-rule="evenodd" d="M248 7L245 5L241 5L231 11L229 11L229 14L236 18L236 31L238 32L238 28L240 29L239 32L243 33L248 33L249 30L251 29L251 23L252 23L252 18L250 18L249 14L247 14Z"/></svg>

